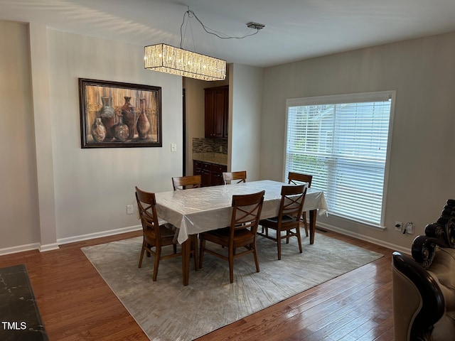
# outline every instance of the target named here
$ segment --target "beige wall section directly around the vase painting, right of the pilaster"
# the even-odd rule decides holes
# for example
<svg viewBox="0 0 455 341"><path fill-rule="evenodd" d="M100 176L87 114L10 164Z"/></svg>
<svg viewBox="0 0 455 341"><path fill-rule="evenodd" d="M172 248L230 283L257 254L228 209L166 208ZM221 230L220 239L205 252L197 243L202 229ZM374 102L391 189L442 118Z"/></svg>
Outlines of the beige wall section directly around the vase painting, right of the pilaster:
<svg viewBox="0 0 455 341"><path fill-rule="evenodd" d="M48 50L58 239L138 225L126 215L134 186L172 190L181 174L181 77L145 70L143 48L112 40L49 30ZM162 148L80 148L78 77L161 87Z"/></svg>

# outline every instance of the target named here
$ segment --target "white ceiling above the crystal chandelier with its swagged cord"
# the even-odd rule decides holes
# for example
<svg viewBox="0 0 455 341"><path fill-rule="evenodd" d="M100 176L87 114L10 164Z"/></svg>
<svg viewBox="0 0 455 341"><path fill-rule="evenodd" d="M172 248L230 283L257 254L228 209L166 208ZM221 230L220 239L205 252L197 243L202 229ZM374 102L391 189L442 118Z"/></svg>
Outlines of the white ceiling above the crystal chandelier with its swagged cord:
<svg viewBox="0 0 455 341"><path fill-rule="evenodd" d="M0 0L0 19L179 47L188 7L225 36L264 24L243 39L210 35L194 17L183 25L183 48L258 67L455 31L454 0Z"/></svg>

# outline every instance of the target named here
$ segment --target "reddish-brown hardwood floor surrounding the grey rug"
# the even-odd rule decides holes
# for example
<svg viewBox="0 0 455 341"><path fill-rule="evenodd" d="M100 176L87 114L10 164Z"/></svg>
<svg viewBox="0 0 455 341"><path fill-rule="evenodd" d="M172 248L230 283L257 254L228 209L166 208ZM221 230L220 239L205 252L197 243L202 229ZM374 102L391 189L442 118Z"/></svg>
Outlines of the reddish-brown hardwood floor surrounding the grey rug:
<svg viewBox="0 0 455 341"><path fill-rule="evenodd" d="M197 340L393 340L392 250L326 234L384 256ZM80 251L140 235L131 232L65 244L55 251L0 256L0 267L26 264L50 341L149 340Z"/></svg>

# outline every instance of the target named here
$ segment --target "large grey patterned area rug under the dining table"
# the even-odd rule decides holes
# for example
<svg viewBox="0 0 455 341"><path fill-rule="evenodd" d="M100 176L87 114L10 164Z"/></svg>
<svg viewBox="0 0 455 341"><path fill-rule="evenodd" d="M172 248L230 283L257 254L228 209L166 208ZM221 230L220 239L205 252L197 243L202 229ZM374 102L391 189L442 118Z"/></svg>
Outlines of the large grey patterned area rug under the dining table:
<svg viewBox="0 0 455 341"><path fill-rule="evenodd" d="M141 242L137 237L82 251L154 341L193 340L382 256L318 233L313 245L302 239L302 254L296 242L283 243L278 261L276 244L258 237L259 273L252 255L242 256L230 284L228 262L205 254L202 269L195 271L191 261L190 283L183 286L180 257L160 261L156 282L153 257L144 257L138 269Z"/></svg>

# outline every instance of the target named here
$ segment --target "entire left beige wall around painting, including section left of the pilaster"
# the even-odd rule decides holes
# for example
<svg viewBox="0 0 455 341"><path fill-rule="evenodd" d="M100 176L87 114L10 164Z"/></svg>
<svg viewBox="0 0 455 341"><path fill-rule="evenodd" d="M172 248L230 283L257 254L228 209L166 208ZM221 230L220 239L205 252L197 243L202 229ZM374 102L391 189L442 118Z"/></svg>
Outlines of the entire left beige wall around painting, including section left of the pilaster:
<svg viewBox="0 0 455 341"><path fill-rule="evenodd" d="M8 90L1 92L0 156L9 165L1 168L8 180L2 186L0 254L40 247L49 236L54 240L45 244L62 244L139 228L136 215L126 215L134 185L172 190L169 174L181 173L182 148L171 153L171 144L183 146L181 77L145 70L140 46L42 26L31 25L29 32L18 23L0 25L2 45L9 46L0 59L0 82ZM163 147L80 148L78 77L161 87ZM37 178L50 178L53 190L37 190Z"/></svg>

